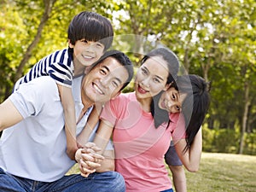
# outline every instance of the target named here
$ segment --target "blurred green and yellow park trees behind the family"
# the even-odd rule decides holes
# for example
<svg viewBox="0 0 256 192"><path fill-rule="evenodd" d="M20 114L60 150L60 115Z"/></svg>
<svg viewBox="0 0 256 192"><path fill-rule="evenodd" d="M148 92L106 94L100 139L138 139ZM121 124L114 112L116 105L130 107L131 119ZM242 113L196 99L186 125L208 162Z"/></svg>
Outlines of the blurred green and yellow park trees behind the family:
<svg viewBox="0 0 256 192"><path fill-rule="evenodd" d="M95 11L112 21L117 37L161 42L188 73L212 82L204 152L255 155L255 8L255 0L0 0L0 102L39 59L67 48L74 15ZM115 49L127 46L139 65L142 42L118 42Z"/></svg>

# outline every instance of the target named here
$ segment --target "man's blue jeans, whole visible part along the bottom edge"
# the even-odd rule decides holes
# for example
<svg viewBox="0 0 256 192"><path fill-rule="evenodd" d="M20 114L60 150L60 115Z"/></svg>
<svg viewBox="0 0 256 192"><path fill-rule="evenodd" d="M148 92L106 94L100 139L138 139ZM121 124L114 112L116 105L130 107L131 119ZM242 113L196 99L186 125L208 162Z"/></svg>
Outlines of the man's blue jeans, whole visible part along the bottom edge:
<svg viewBox="0 0 256 192"><path fill-rule="evenodd" d="M15 177L0 168L0 191L4 192L125 192L125 180L118 172L92 173L89 177L79 174L61 177L55 182L38 182Z"/></svg>

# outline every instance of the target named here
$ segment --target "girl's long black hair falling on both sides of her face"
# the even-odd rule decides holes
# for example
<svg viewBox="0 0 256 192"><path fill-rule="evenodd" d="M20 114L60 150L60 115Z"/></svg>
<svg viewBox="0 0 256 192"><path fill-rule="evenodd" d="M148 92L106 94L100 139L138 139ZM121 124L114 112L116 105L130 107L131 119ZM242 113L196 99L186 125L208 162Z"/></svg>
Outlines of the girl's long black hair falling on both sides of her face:
<svg viewBox="0 0 256 192"><path fill-rule="evenodd" d="M200 127L207 115L207 110L210 105L209 87L205 79L195 74L177 76L177 80L173 82L171 87L174 87L180 94L186 94L182 104L182 112L185 128L186 128L186 143L184 152L190 148L194 142L195 135L200 130ZM154 96L154 102L151 102L151 113L154 115L154 125L157 128L165 122L172 119L169 118L169 113L164 113L159 108L158 103L160 96L164 91ZM166 111L167 112L167 111ZM177 127L178 129L178 127Z"/></svg>

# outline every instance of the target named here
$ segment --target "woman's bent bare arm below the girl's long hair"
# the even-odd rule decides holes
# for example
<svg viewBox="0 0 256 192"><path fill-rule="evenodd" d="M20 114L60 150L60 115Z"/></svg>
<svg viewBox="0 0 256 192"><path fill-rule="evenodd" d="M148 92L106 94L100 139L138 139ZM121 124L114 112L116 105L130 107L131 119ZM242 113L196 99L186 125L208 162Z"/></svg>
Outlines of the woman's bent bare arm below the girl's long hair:
<svg viewBox="0 0 256 192"><path fill-rule="evenodd" d="M183 162L183 166L189 172L197 172L199 170L202 150L202 133L201 128L195 135L194 143L183 153L183 148L186 146L186 140L181 139L175 144L175 149L179 159Z"/></svg>

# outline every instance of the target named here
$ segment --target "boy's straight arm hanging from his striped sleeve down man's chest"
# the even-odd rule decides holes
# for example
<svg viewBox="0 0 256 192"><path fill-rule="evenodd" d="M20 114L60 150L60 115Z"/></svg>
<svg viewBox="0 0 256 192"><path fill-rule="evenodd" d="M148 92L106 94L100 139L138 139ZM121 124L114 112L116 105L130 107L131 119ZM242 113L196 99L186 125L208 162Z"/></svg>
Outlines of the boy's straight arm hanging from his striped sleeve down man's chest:
<svg viewBox="0 0 256 192"><path fill-rule="evenodd" d="M61 84L57 84L61 97L61 104L65 115L65 133L67 137L67 155L74 160L74 155L78 149L76 142L76 117L72 95L72 89Z"/></svg>

